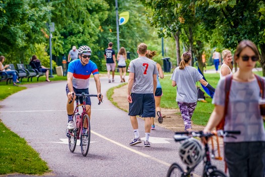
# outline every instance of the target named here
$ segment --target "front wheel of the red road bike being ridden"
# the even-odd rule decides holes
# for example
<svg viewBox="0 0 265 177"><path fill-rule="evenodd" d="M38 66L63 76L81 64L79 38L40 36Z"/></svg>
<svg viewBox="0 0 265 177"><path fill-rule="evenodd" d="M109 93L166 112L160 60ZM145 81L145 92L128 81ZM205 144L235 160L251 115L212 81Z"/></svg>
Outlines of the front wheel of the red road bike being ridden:
<svg viewBox="0 0 265 177"><path fill-rule="evenodd" d="M88 126L87 126L88 125ZM83 126L87 126L87 131L85 134L81 136L81 152L83 156L86 156L89 150L89 145L90 145L90 120L87 114L84 115L83 117ZM82 131L82 129L81 129Z"/></svg>

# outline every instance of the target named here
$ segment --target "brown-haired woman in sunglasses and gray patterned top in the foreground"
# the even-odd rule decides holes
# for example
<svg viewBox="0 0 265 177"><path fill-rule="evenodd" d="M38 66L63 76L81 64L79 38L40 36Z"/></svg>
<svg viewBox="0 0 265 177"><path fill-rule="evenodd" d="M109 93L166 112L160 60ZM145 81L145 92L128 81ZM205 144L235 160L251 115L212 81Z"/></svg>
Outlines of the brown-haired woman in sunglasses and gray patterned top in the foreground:
<svg viewBox="0 0 265 177"><path fill-rule="evenodd" d="M240 135L225 137L225 160L230 176L264 176L265 131L258 100L260 87L252 72L259 60L257 47L250 40L239 43L235 62L240 68L232 75L232 82L225 115L224 130L240 130ZM264 82L264 80L262 80ZM222 120L225 112L226 79L220 79L211 113L204 132L209 132Z"/></svg>

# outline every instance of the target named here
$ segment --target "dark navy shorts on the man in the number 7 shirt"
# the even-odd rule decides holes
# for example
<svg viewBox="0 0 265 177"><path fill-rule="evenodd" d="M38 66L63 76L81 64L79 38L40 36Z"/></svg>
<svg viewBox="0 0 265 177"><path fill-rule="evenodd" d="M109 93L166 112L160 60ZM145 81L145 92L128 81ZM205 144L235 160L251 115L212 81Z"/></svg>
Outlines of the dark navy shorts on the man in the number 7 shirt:
<svg viewBox="0 0 265 177"><path fill-rule="evenodd" d="M131 93L132 103L129 103L130 116L155 117L155 103L153 94Z"/></svg>

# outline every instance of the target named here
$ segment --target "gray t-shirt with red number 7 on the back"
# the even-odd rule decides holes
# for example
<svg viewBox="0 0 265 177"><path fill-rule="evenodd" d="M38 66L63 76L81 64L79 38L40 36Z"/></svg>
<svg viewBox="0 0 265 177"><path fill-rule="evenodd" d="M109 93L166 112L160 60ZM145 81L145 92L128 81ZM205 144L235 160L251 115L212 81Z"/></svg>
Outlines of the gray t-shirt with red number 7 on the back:
<svg viewBox="0 0 265 177"><path fill-rule="evenodd" d="M138 57L130 62L128 72L134 73L131 93L152 94L153 74L158 74L156 63L147 57Z"/></svg>

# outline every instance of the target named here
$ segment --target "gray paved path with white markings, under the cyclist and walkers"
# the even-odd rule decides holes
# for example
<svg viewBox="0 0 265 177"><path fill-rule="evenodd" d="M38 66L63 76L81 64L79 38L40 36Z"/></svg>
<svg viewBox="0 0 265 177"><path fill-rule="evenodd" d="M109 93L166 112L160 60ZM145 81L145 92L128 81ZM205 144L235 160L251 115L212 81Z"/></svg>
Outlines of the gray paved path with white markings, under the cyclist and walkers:
<svg viewBox="0 0 265 177"><path fill-rule="evenodd" d="M66 81L40 82L28 86L0 102L0 117L4 124L25 138L47 162L55 176L166 176L169 166L180 162L179 143L174 132L159 126L151 131L151 147L143 143L129 146L133 139L128 113L107 100L106 92L120 84L108 83L100 77L103 103L91 98L91 144L88 155L82 156L80 146L69 151L65 135L67 127ZM90 94L96 94L93 78ZM144 140L144 121L138 119L140 137ZM213 161L220 169L224 163ZM182 163L181 163L182 164ZM201 175L201 164L195 173ZM14 176L14 175L13 175ZM18 175L16 175L18 176ZM20 175L23 176L23 175ZM197 176L197 175L194 175Z"/></svg>

